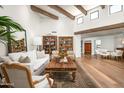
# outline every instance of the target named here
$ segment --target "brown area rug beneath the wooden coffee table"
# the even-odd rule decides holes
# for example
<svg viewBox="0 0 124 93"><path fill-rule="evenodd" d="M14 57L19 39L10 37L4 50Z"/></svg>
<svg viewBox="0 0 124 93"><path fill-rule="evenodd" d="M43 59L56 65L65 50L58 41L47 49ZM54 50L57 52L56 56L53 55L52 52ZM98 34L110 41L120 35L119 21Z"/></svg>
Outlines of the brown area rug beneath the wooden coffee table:
<svg viewBox="0 0 124 93"><path fill-rule="evenodd" d="M72 81L72 76L68 72L53 74L53 88L96 88L93 82L85 74L80 75L79 71L76 72L75 82Z"/></svg>

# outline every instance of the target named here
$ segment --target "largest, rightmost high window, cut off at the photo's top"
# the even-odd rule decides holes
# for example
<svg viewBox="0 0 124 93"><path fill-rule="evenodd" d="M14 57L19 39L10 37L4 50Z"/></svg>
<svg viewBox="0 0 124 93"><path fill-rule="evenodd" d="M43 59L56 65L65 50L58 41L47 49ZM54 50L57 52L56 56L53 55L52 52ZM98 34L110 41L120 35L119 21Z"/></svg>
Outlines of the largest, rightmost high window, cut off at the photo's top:
<svg viewBox="0 0 124 93"><path fill-rule="evenodd" d="M122 5L110 5L109 6L109 13L113 14L113 13L117 13L123 10L123 6Z"/></svg>

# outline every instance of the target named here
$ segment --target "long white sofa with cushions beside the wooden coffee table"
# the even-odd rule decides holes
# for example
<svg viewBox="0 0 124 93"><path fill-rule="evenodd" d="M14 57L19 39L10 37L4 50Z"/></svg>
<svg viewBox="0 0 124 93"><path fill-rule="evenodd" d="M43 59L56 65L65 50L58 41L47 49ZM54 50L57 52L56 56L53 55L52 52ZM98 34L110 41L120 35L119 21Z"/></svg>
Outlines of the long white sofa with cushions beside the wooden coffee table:
<svg viewBox="0 0 124 93"><path fill-rule="evenodd" d="M40 75L44 71L46 65L49 63L50 58L49 55L45 54L44 51L37 52L35 50L28 52L9 53L8 56L13 61L18 61L21 56L28 56L31 62L23 64L31 69L33 75Z"/></svg>

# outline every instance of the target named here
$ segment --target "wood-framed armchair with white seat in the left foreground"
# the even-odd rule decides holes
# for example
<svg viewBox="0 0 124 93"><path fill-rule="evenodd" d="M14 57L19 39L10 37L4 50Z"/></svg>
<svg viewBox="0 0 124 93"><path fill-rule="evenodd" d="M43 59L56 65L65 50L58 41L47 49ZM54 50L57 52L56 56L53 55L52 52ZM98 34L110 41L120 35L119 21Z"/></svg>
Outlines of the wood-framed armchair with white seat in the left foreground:
<svg viewBox="0 0 124 93"><path fill-rule="evenodd" d="M2 64L2 72L7 83L15 88L49 88L53 79L48 75L32 76L30 70L21 63Z"/></svg>

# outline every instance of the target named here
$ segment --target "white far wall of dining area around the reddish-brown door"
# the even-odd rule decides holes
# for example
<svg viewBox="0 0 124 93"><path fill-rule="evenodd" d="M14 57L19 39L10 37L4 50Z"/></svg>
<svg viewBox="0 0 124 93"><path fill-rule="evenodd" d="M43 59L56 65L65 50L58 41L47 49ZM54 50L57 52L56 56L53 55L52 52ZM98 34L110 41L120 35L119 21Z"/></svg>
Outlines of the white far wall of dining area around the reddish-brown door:
<svg viewBox="0 0 124 93"><path fill-rule="evenodd" d="M114 51L116 48L122 47L121 40L124 38L123 34L109 35L109 36L99 36L82 38L83 40L83 54L84 54L84 43L86 41L91 41L92 43L92 55L95 54L95 40L101 40L101 49L107 49L108 51Z"/></svg>

